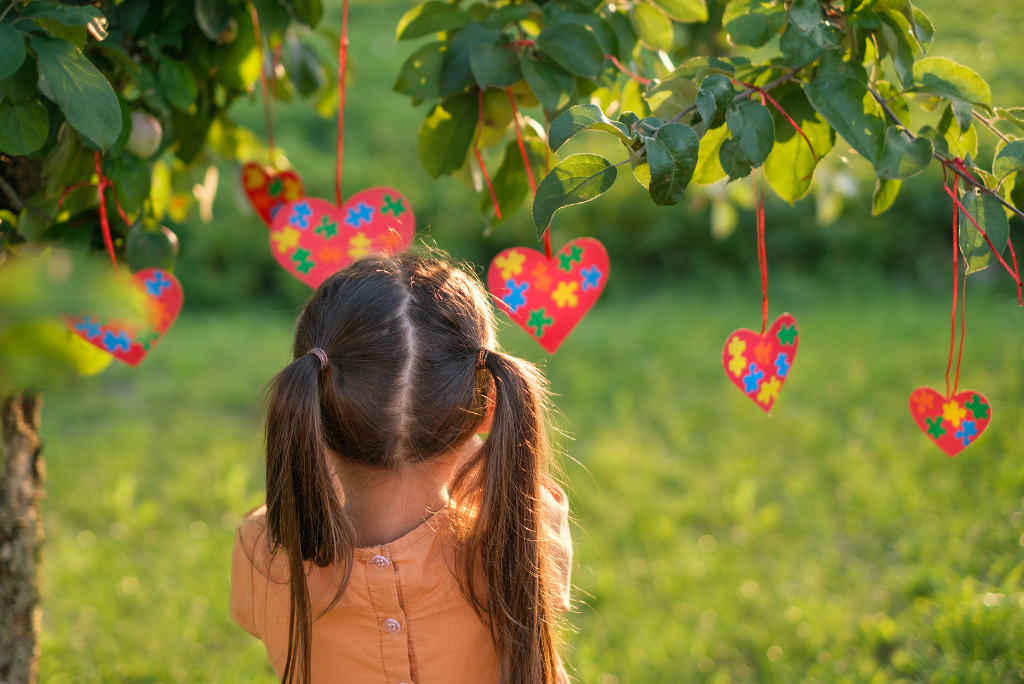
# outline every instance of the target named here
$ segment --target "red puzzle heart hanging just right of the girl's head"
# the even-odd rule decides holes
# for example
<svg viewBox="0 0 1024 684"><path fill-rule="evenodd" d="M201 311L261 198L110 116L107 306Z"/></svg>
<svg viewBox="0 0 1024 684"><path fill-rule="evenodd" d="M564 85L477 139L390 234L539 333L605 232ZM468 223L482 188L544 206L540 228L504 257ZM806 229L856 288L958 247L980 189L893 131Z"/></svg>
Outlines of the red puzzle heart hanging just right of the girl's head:
<svg viewBox="0 0 1024 684"><path fill-rule="evenodd" d="M608 280L608 253L593 238L578 238L550 261L523 247L490 262L487 290L500 307L549 353L594 305Z"/></svg>

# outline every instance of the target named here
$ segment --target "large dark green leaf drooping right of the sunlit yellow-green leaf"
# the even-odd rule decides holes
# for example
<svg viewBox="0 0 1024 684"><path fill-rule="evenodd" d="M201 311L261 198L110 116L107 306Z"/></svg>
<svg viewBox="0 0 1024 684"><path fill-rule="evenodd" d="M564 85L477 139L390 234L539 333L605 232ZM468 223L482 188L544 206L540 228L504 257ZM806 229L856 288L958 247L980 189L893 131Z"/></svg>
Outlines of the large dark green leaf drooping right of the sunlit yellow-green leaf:
<svg viewBox="0 0 1024 684"><path fill-rule="evenodd" d="M877 166L882 157L885 122L864 85L867 74L833 51L821 57L814 80L804 84L807 99L857 154Z"/></svg>

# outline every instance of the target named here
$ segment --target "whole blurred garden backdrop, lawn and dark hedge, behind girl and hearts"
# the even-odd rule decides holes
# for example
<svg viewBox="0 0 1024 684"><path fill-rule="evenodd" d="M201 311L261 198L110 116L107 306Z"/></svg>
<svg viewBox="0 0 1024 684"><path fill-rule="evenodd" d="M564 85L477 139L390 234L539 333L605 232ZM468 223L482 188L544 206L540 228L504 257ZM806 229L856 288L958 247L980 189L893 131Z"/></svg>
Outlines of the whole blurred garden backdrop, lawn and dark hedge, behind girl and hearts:
<svg viewBox="0 0 1024 684"><path fill-rule="evenodd" d="M482 273L535 228L520 209L488 230L471 188L422 170L423 105L391 91L417 47L394 41L412 4L352 0L345 195L399 189L419 234ZM1024 105L1018 3L916 4L932 54ZM337 29L340 3L324 24ZM262 131L258 96L230 114ZM334 118L295 98L274 132L307 193L333 197ZM749 180L658 209L621 174L556 217L556 249L607 246L605 294L557 356L507 324L502 342L557 394L580 681L1024 679L1024 314L1006 273L971 276L961 387L994 420L948 459L906 410L914 387L942 384L948 349L941 171L872 218L872 173L845 151L796 207L769 197L771 315L794 313L803 341L767 418L719 361L760 314ZM228 572L234 525L263 497L259 393L309 291L273 260L237 167L220 169L212 221L172 227L185 305L166 339L137 370L46 396L44 682L275 681L227 617Z"/></svg>

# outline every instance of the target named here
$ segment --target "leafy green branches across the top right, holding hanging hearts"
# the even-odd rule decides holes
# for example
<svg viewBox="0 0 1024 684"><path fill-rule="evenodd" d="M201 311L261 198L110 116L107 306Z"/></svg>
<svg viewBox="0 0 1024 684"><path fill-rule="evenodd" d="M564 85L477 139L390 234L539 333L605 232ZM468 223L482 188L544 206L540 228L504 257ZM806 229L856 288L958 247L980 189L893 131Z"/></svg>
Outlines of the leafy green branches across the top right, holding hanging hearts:
<svg viewBox="0 0 1024 684"><path fill-rule="evenodd" d="M626 163L658 206L678 203L691 182L741 178L762 167L771 187L792 204L809 193L837 135L844 151L852 148L874 168L874 214L892 206L903 179L935 159L948 170L956 158L981 179L967 186L981 185L986 206L1000 206L1008 214L1021 209L1013 202L1024 199L1015 182L1024 171L1024 147L1016 138L1024 132L1024 111L994 106L977 73L928 56L935 29L909 0L717 4L724 5L719 12L709 11L705 0L489 0L465 7L426 2L402 18L401 38L410 37L415 22L426 20L420 17L453 22L438 19L436 42L409 58L395 90L439 100L421 130L421 151L424 139L434 135L430 122L437 112L478 89L508 87L520 108L543 110L553 153L583 131L614 136L626 151L622 161L591 154L598 143L584 136L579 144L588 155L551 169L535 200L534 218L542 231L558 209L605 191L613 169ZM774 38L777 43L758 63L720 49L721 33L732 45L762 47ZM711 54L697 51L708 49ZM439 53L446 56L424 56ZM414 74L419 81L411 87ZM911 104L938 112L938 122L914 132ZM541 119L523 120L532 121L530 116ZM464 117L449 125L465 128L460 136L449 133L460 144L445 151L443 163L435 155L421 159L435 177L468 176L466 165L475 162L464 141L472 138L475 122ZM1000 140L990 170L977 167L982 125ZM513 132L511 123L505 135L490 131L481 146L505 145ZM582 159L588 171L578 175ZM496 177L507 176L507 165L522 167L514 155L502 160ZM993 180L986 185L986 178ZM580 180L587 193L568 188L568 179ZM495 201L505 207L503 187L496 186ZM482 190L484 213L490 204Z"/></svg>

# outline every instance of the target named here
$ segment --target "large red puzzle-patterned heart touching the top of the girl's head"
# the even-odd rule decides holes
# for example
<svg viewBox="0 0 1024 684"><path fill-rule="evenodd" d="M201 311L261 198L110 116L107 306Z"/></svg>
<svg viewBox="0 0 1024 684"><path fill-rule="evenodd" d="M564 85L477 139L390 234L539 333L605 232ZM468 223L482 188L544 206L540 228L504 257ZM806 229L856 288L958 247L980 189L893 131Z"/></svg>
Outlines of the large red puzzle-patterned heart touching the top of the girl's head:
<svg viewBox="0 0 1024 684"><path fill-rule="evenodd" d="M285 205L270 227L270 251L285 270L317 288L359 257L402 251L415 230L413 210L400 193L371 187L340 209L319 198Z"/></svg>

